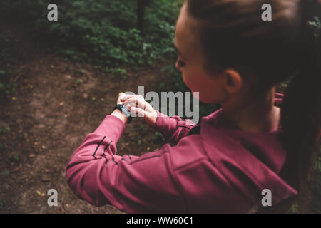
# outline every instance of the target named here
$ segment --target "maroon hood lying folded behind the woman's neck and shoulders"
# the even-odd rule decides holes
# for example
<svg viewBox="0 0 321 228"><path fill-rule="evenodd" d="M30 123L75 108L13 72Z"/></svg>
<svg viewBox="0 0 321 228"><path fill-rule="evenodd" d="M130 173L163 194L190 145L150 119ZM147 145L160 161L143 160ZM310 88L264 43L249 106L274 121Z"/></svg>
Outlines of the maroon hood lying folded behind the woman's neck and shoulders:
<svg viewBox="0 0 321 228"><path fill-rule="evenodd" d="M200 137L210 161L244 197L260 204L262 190L269 189L275 205L297 195L278 175L287 156L280 142L281 130L245 132L225 119L221 109L202 118L201 126Z"/></svg>

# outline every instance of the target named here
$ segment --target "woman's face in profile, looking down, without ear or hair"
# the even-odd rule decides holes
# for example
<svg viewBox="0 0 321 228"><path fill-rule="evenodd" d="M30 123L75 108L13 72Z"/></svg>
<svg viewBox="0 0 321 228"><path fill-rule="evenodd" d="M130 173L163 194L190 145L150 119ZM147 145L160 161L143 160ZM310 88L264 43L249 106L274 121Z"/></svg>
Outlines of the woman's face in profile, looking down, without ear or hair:
<svg viewBox="0 0 321 228"><path fill-rule="evenodd" d="M176 68L182 73L183 81L192 92L199 92L199 100L204 103L221 103L224 100L221 76L209 75L203 69L204 56L196 41L197 22L190 18L187 4L184 4L176 24L175 47L178 52Z"/></svg>

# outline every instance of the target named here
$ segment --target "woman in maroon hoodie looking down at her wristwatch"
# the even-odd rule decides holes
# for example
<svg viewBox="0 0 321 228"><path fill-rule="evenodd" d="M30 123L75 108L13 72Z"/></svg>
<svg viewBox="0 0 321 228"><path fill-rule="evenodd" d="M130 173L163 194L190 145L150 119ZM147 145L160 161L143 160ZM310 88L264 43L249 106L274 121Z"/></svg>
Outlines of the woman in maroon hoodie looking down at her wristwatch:
<svg viewBox="0 0 321 228"><path fill-rule="evenodd" d="M262 21L257 0L186 1L176 24L176 67L201 101L222 109L196 125L120 93L118 104L177 145L116 155L127 118L115 110L73 153L66 167L71 190L123 212L285 212L320 137L320 69L307 24L320 1L269 2L272 21ZM282 103L275 86L292 75ZM272 207L263 207L263 190Z"/></svg>

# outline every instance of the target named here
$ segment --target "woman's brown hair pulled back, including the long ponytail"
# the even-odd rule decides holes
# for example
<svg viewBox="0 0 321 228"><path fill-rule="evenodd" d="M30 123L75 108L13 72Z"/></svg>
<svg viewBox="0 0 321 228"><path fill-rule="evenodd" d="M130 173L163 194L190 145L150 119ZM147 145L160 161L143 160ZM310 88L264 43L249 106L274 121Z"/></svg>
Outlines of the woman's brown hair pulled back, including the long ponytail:
<svg viewBox="0 0 321 228"><path fill-rule="evenodd" d="M288 152L280 175L299 192L320 133L321 71L317 61L321 47L307 24L320 13L320 2L187 0L188 14L198 21L206 71L239 68L246 75L243 67L250 68L258 76L253 88L258 93L293 76L282 104L282 140ZM272 21L261 19L263 4L272 6ZM287 211L293 200L285 202L272 207L273 212Z"/></svg>

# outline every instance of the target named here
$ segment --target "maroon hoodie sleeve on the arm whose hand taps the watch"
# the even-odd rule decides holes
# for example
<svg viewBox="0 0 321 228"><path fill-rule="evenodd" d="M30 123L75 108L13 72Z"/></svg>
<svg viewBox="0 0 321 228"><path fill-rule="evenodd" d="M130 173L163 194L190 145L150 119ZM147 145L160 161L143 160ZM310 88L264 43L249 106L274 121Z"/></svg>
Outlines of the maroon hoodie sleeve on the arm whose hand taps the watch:
<svg viewBox="0 0 321 228"><path fill-rule="evenodd" d="M155 124L151 125L151 128L162 133L168 142L177 144L181 138L188 135L190 130L198 126L190 119L183 120L177 115L169 117L158 110L156 112L158 114L157 119Z"/></svg>

